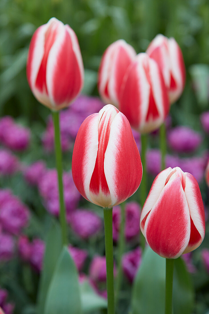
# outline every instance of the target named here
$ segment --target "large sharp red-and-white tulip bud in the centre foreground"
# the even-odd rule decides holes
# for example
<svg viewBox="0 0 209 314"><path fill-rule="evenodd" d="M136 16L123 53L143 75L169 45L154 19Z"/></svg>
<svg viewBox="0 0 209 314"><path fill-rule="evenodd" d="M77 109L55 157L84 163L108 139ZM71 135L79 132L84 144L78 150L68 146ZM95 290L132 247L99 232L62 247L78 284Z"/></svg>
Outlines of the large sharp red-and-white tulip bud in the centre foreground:
<svg viewBox="0 0 209 314"><path fill-rule="evenodd" d="M142 180L142 162L130 124L112 105L88 116L78 130L72 154L74 183L89 202L115 206Z"/></svg>

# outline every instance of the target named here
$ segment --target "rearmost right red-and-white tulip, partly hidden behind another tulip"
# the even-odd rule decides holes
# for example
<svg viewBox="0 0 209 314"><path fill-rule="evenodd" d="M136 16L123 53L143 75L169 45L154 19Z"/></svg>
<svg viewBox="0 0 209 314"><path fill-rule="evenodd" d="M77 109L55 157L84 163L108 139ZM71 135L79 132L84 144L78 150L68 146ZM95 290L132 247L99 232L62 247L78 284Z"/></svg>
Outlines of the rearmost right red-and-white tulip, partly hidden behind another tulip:
<svg viewBox="0 0 209 314"><path fill-rule="evenodd" d="M181 49L174 38L158 34L147 48L147 54L158 63L168 89L170 103L182 94L186 71Z"/></svg>

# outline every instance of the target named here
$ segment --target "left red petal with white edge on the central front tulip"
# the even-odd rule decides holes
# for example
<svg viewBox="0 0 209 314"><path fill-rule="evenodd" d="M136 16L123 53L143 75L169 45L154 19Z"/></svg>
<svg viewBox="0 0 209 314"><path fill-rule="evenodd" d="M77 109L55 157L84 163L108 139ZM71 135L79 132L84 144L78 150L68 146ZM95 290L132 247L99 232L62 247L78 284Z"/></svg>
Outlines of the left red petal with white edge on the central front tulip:
<svg viewBox="0 0 209 314"><path fill-rule="evenodd" d="M81 195L92 202L89 185L98 151L99 113L88 116L80 126L72 154L73 181Z"/></svg>

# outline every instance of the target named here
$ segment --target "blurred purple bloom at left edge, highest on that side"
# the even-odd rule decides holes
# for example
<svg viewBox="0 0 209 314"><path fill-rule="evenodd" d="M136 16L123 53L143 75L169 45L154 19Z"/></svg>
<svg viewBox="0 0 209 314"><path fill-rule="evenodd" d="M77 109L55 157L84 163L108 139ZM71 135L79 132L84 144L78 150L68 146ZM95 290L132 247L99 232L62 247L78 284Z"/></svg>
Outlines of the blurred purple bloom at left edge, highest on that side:
<svg viewBox="0 0 209 314"><path fill-rule="evenodd" d="M0 120L0 140L12 150L24 150L29 145L30 131L14 122L10 116Z"/></svg>

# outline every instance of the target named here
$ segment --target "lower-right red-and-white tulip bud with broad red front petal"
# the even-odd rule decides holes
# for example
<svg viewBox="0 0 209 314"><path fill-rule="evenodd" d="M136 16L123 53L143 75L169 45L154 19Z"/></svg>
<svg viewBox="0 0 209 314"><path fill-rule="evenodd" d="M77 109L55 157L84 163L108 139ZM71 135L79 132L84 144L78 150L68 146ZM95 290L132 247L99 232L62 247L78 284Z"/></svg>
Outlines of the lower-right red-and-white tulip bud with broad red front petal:
<svg viewBox="0 0 209 314"><path fill-rule="evenodd" d="M142 208L140 227L158 255L177 258L205 236L205 213L196 179L179 167L160 172Z"/></svg>

